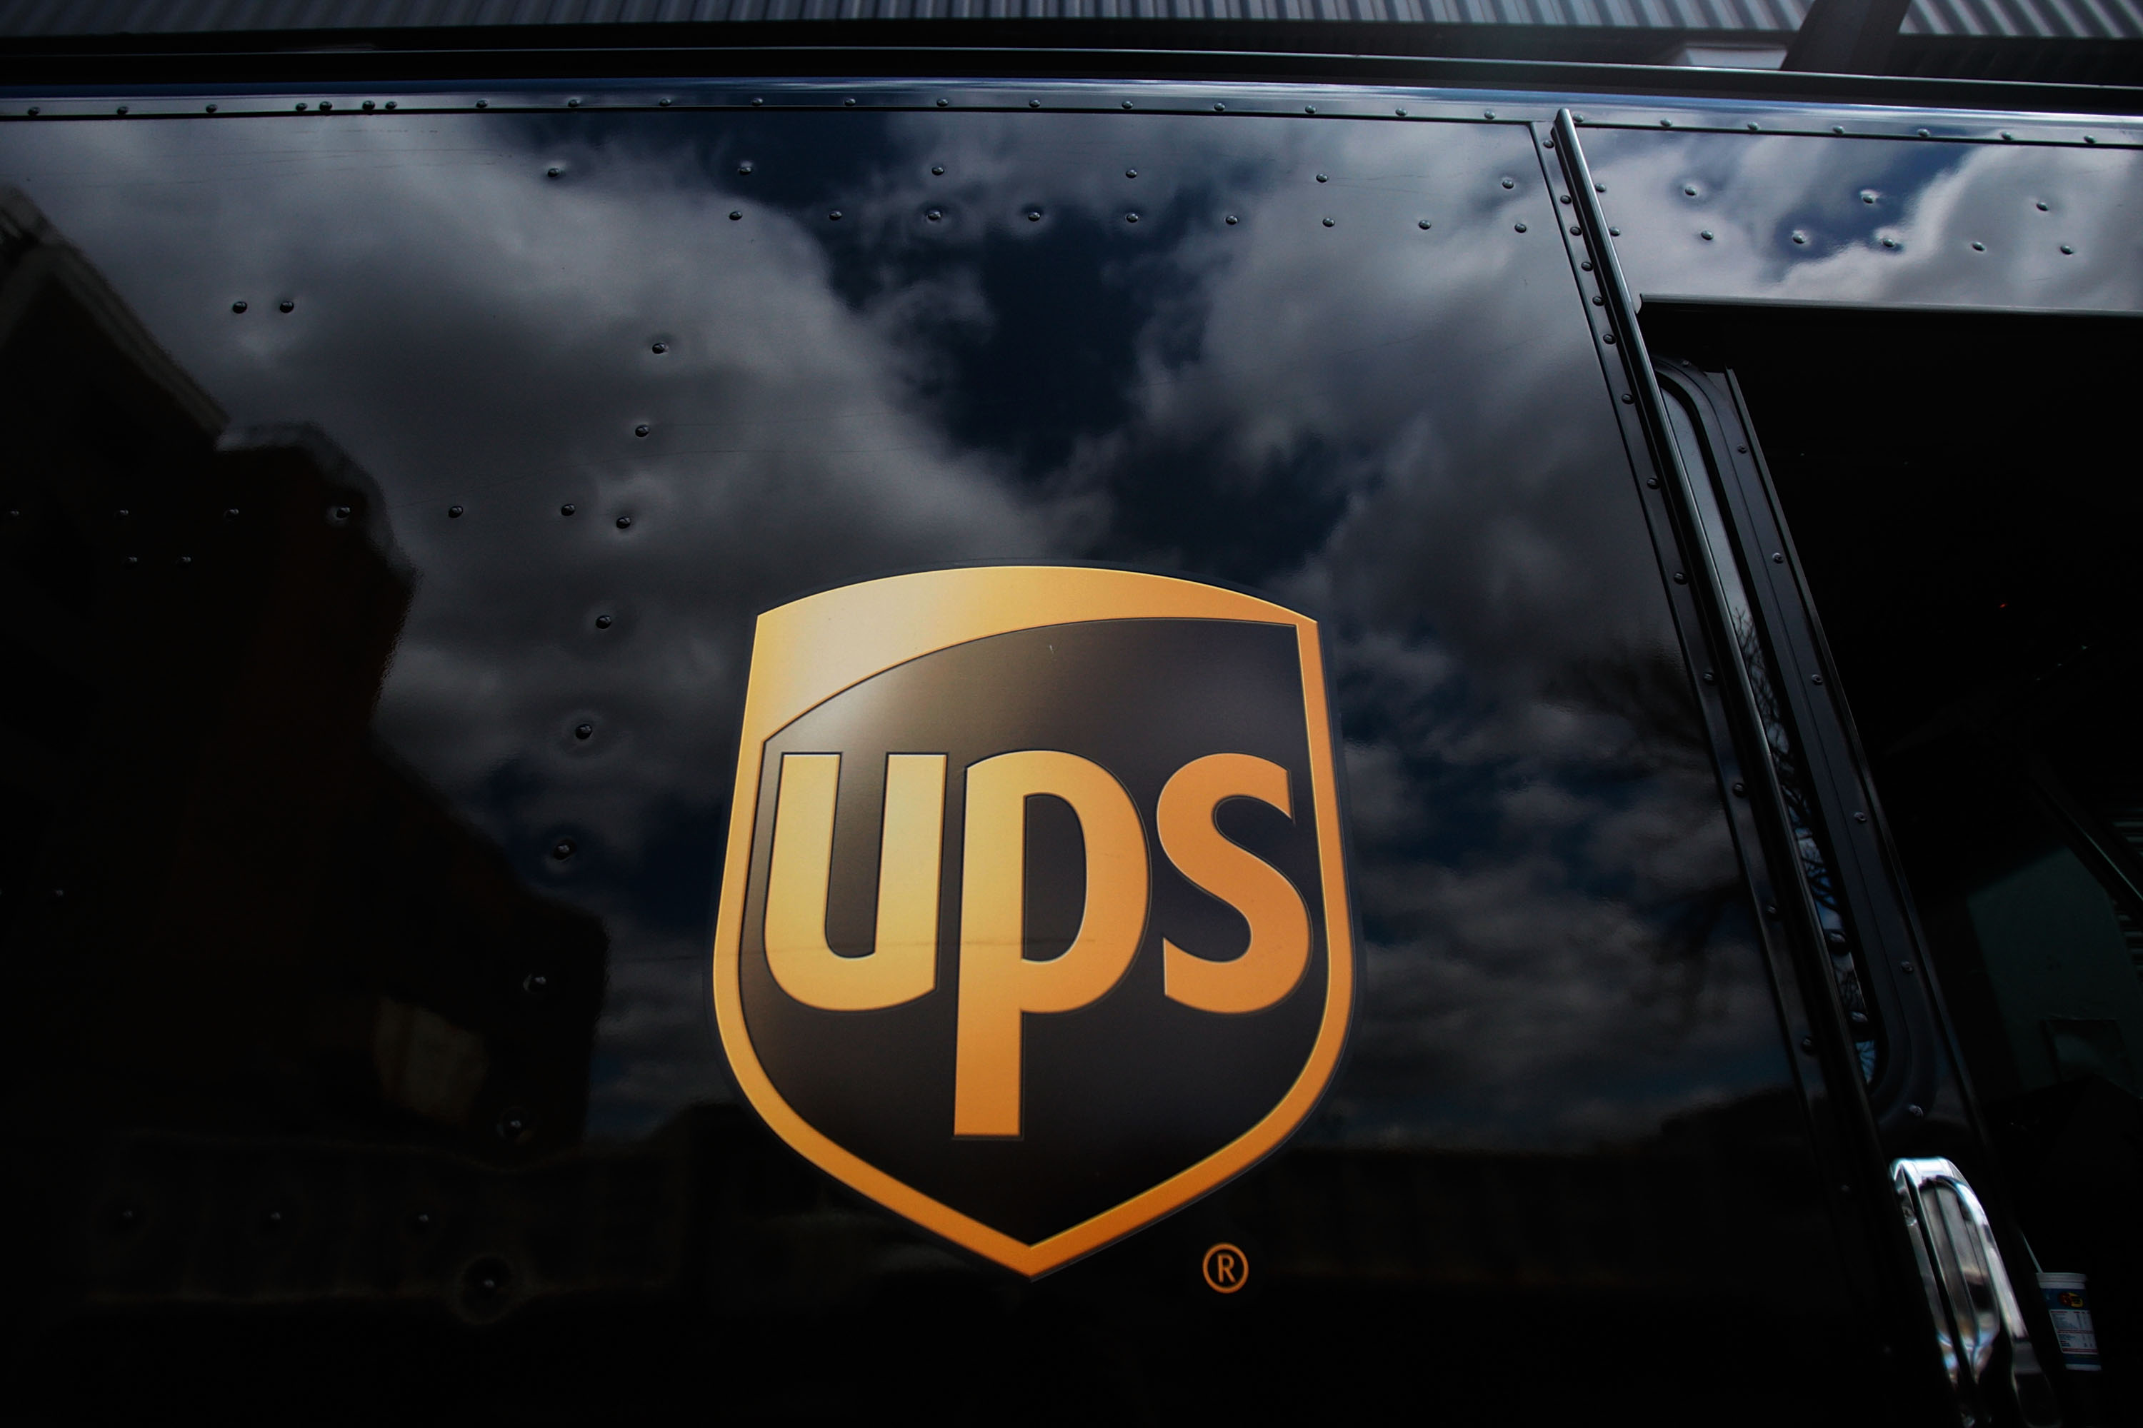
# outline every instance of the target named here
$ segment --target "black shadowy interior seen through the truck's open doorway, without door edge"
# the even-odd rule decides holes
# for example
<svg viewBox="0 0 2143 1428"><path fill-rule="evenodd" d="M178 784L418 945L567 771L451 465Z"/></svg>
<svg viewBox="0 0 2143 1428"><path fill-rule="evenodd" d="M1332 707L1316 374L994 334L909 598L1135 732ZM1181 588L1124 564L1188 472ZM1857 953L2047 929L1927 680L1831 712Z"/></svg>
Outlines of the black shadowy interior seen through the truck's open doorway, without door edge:
<svg viewBox="0 0 2143 1428"><path fill-rule="evenodd" d="M2143 1336L2137 328L1646 325L1738 383L2002 1178L2040 1265L2087 1274L2119 1417Z"/></svg>

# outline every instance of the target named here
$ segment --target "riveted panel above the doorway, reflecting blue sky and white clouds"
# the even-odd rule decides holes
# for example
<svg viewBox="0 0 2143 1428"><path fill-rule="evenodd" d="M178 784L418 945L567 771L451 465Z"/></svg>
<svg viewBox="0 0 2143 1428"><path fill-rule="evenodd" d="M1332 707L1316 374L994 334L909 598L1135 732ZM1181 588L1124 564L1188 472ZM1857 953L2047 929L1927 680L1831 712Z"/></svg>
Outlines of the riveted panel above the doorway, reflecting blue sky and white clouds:
<svg viewBox="0 0 2143 1428"><path fill-rule="evenodd" d="M1646 298L2143 310L2143 152L1588 131Z"/></svg>

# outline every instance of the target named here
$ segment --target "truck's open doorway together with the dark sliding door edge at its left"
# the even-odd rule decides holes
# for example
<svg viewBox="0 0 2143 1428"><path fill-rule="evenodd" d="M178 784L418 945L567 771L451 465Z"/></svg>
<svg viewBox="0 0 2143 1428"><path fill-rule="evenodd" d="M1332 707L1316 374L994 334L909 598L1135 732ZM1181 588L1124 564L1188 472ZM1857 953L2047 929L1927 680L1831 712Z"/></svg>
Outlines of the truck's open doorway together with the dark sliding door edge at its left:
<svg viewBox="0 0 2143 1428"><path fill-rule="evenodd" d="M2012 1278L2047 1310L2070 1422L2132 1422L2137 325L1691 304L1644 325L1680 353L1661 383L1697 520L1800 762L1884 1154L1948 1158L2014 1216ZM1914 1017L1912 970L1939 1023ZM1944 1107L1907 1062L1952 1045L1965 1094Z"/></svg>

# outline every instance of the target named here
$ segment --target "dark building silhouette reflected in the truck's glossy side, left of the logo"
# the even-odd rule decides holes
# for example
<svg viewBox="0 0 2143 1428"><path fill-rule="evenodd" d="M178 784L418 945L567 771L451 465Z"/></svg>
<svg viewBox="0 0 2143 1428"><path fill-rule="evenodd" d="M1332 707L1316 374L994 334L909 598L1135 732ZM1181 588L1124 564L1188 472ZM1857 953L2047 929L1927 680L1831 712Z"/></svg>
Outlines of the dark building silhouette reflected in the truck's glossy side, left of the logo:
<svg viewBox="0 0 2143 1428"><path fill-rule="evenodd" d="M373 739L411 589L375 482L315 430L225 430L19 195L0 236L9 1115L30 1163L118 1137L96 1184L41 1171L77 1231L47 1267L90 1302L304 1297L317 1237L381 1212L321 1203L321 1165L581 1139L606 938Z"/></svg>

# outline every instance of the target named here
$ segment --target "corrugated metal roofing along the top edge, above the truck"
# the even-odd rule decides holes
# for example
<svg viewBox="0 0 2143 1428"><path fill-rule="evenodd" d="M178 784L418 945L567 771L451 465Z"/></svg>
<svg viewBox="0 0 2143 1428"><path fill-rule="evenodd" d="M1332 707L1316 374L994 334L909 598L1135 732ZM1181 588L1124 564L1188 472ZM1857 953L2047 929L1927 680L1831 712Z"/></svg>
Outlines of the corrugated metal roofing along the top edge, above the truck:
<svg viewBox="0 0 2143 1428"><path fill-rule="evenodd" d="M1309 19L1785 36L1807 9L1807 0L0 0L0 36L748 19ZM2143 39L2143 0L1914 0L1901 34Z"/></svg>

